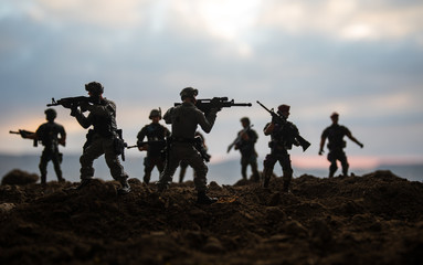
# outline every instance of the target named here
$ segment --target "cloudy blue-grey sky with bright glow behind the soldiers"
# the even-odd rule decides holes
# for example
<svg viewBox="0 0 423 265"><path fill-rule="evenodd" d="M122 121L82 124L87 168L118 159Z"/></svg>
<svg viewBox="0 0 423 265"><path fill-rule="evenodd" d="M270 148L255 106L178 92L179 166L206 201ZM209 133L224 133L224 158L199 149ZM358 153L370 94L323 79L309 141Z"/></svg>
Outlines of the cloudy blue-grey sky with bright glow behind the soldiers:
<svg viewBox="0 0 423 265"><path fill-rule="evenodd" d="M239 158L228 145L248 116L262 132L271 119L255 102L292 106L289 119L313 146L295 163L327 167L317 156L332 112L364 148L357 165L423 161L423 2L417 0L2 0L0 2L0 152L38 153L10 129L35 130L52 97L86 95L97 81L117 104L128 144L151 108L228 96L251 108L223 109L207 135L213 161ZM85 130L56 107L81 153ZM140 156L135 150L129 155Z"/></svg>

